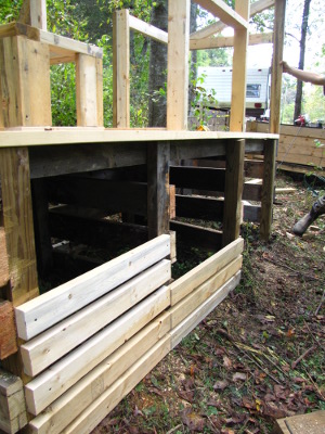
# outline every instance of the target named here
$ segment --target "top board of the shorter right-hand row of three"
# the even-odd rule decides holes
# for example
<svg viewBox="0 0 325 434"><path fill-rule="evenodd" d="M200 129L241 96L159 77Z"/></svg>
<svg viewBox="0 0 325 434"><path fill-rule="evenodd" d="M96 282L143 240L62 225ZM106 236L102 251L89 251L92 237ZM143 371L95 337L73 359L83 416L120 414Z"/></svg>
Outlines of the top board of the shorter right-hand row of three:
<svg viewBox="0 0 325 434"><path fill-rule="evenodd" d="M171 306L174 306L211 276L216 275L229 263L234 260L240 255L243 248L244 240L238 238L220 252L186 272L186 275L172 282L170 285Z"/></svg>

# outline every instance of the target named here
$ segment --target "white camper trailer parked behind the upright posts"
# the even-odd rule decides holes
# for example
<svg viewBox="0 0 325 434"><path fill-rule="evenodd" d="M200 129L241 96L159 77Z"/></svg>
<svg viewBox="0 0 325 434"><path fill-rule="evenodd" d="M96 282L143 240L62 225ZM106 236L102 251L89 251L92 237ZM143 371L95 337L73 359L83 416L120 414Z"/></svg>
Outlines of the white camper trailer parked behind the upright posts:
<svg viewBox="0 0 325 434"><path fill-rule="evenodd" d="M202 86L207 93L216 92L217 104L210 108L229 110L232 99L231 67L199 66L197 77L203 78ZM246 116L259 118L266 108L270 100L270 68L247 69L246 78Z"/></svg>

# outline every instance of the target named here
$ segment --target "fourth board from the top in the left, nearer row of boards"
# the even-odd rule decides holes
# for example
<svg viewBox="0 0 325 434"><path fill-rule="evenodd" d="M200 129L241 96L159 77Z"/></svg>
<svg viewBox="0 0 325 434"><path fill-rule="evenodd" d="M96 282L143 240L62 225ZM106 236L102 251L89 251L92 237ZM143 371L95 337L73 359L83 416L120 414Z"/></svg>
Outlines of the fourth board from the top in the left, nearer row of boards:
<svg viewBox="0 0 325 434"><path fill-rule="evenodd" d="M31 420L32 433L60 434L170 330L164 312Z"/></svg>

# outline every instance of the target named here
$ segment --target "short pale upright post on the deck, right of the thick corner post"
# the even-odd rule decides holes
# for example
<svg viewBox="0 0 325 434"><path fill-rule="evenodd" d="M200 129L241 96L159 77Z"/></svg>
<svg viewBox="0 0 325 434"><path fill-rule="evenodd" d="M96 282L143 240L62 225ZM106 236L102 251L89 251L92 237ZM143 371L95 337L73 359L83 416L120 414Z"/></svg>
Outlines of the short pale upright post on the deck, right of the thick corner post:
<svg viewBox="0 0 325 434"><path fill-rule="evenodd" d="M77 54L76 99L77 125L96 127L103 119L103 108L99 94L102 93L101 60L87 54Z"/></svg>

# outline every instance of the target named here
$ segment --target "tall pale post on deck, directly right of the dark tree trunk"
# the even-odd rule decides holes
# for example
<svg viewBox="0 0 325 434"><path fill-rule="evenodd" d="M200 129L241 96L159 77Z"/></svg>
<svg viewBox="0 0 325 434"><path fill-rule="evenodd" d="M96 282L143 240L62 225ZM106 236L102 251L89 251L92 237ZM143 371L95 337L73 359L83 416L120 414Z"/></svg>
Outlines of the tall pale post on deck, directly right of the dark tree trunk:
<svg viewBox="0 0 325 434"><path fill-rule="evenodd" d="M190 0L168 1L167 129L187 129Z"/></svg>

